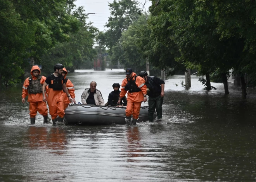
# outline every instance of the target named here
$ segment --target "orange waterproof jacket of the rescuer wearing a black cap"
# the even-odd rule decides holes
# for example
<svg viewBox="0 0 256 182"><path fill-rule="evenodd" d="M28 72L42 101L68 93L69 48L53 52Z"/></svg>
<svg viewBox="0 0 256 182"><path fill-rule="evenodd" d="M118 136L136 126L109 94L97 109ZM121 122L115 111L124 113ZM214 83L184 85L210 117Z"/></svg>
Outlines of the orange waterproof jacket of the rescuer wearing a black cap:
<svg viewBox="0 0 256 182"><path fill-rule="evenodd" d="M133 72L131 74L132 74L131 77L133 77L132 80L134 80L134 77L135 77L136 73ZM128 79L128 80L130 81L130 79ZM123 98L125 96L126 92L127 92L125 90L125 85L127 83L128 83L127 79L125 78L122 82L122 85L121 85L122 88L121 88L120 98ZM142 102L144 100L143 94L147 94L147 86L145 85L145 80L141 77L137 77L135 83L136 83L137 87L139 87L142 92L132 92L132 93L128 92L127 101Z"/></svg>

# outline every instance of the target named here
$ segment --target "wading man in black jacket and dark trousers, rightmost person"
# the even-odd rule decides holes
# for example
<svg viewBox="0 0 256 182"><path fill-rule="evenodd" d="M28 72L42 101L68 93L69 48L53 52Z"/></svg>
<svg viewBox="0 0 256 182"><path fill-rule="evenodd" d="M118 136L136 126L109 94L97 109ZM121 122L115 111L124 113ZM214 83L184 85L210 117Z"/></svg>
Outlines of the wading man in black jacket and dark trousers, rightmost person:
<svg viewBox="0 0 256 182"><path fill-rule="evenodd" d="M139 74L145 80L149 92L149 121L154 121L153 114L156 110L157 119L162 119L162 105L164 101L164 81L156 76L148 77L146 71L140 71Z"/></svg>

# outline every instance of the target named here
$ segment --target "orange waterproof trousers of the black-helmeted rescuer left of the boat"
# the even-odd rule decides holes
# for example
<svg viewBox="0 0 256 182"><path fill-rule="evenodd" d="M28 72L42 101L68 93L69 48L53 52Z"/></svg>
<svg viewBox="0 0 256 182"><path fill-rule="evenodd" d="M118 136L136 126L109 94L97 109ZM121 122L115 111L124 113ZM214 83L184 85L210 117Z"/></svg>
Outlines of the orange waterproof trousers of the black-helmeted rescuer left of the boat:
<svg viewBox="0 0 256 182"><path fill-rule="evenodd" d="M64 117L63 92L61 90L49 88L47 102L52 119L56 119L57 116Z"/></svg>

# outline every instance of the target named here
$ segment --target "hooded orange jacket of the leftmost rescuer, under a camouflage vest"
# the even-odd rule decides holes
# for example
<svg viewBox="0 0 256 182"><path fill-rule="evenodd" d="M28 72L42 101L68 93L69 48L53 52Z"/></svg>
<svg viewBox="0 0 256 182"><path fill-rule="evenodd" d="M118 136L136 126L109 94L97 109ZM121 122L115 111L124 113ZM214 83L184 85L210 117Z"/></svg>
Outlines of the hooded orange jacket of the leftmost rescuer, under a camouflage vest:
<svg viewBox="0 0 256 182"><path fill-rule="evenodd" d="M33 75L34 70L39 70L40 75L40 68L38 66L32 66L30 74L32 75L32 79L36 80L37 78ZM43 84L45 82L45 77L42 76L40 83ZM22 87L22 98L25 98L28 95L28 102L40 102L43 101L43 94L28 94L28 86L29 86L29 77L25 80L23 87ZM48 93L48 86L46 87L46 93Z"/></svg>

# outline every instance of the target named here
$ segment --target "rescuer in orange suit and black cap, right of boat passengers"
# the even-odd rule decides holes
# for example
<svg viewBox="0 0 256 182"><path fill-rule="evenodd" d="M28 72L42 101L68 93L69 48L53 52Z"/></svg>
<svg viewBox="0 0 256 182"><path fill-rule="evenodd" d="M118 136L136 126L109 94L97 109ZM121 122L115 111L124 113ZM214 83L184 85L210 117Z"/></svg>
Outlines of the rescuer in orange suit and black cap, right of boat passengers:
<svg viewBox="0 0 256 182"><path fill-rule="evenodd" d="M131 68L125 70L126 78L121 85L121 93L117 104L120 104L121 99L125 97L128 91L127 107L125 110L126 119L131 121L131 114L133 116L131 123L136 124L140 114L140 105L142 101L147 101L147 86L145 80L137 77L136 73L132 72Z"/></svg>

